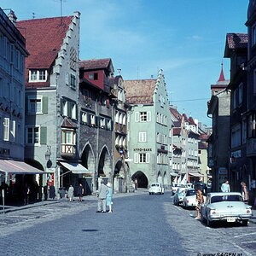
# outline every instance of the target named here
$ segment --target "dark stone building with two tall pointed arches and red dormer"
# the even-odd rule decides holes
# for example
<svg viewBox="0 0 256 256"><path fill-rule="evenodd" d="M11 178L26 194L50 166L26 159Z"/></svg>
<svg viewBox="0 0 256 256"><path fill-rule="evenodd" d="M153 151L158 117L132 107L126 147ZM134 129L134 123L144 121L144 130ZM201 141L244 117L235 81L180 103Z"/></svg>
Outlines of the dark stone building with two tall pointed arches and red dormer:
<svg viewBox="0 0 256 256"><path fill-rule="evenodd" d="M86 176L87 194L103 179L113 179L113 93L110 58L79 62L80 139L79 152Z"/></svg>

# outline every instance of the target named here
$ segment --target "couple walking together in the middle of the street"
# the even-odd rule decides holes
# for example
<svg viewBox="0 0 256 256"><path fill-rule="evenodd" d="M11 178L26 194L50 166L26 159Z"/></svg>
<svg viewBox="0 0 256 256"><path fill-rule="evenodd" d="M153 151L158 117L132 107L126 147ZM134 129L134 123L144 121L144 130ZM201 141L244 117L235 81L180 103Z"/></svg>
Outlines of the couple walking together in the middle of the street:
<svg viewBox="0 0 256 256"><path fill-rule="evenodd" d="M112 205L112 197L113 197L113 188L112 183L107 183L107 185L104 183L104 181L101 181L100 188L98 192L96 193L98 197L98 208L96 212L113 212Z"/></svg>

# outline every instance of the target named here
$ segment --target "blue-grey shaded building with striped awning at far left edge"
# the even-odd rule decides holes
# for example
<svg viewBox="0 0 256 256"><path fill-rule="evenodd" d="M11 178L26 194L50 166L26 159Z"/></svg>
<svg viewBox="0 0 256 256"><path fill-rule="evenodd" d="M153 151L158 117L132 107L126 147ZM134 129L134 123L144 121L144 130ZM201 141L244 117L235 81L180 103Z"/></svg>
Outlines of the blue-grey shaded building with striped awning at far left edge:
<svg viewBox="0 0 256 256"><path fill-rule="evenodd" d="M16 19L14 11L6 15L0 8L0 190L1 193L4 190L7 203L11 197L23 201L25 174L32 177L32 174L42 173L24 160L24 68L29 53L25 38L15 26Z"/></svg>

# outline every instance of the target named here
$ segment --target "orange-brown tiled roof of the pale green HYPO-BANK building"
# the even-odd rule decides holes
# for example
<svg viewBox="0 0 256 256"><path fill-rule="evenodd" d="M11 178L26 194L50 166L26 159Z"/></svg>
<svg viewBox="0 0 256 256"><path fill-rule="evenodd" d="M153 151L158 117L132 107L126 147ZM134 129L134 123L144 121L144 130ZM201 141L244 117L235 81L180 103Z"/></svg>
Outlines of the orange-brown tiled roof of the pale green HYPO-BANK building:
<svg viewBox="0 0 256 256"><path fill-rule="evenodd" d="M125 80L126 101L130 104L153 103L156 79Z"/></svg>

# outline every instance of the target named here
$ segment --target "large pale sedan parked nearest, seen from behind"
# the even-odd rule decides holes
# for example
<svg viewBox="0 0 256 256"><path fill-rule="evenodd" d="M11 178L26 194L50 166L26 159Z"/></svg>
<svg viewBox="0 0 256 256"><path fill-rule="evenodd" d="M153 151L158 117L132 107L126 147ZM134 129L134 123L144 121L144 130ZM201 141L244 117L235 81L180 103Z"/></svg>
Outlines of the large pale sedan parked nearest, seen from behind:
<svg viewBox="0 0 256 256"><path fill-rule="evenodd" d="M252 216L251 207L243 202L238 192L209 193L206 202L201 205L201 221L206 221L208 226L215 222L247 225Z"/></svg>

